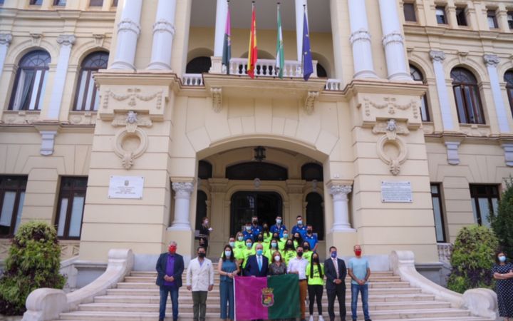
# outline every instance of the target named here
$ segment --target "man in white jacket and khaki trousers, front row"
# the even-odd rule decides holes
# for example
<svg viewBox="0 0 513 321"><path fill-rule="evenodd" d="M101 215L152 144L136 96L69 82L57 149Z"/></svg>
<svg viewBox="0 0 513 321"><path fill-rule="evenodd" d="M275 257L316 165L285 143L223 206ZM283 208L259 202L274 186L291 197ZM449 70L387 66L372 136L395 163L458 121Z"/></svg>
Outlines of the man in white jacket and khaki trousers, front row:
<svg viewBox="0 0 513 321"><path fill-rule="evenodd" d="M214 288L214 267L212 261L205 258L207 250L199 246L197 258L187 267L187 290L192 290L192 312L195 321L204 321L207 312L207 292Z"/></svg>

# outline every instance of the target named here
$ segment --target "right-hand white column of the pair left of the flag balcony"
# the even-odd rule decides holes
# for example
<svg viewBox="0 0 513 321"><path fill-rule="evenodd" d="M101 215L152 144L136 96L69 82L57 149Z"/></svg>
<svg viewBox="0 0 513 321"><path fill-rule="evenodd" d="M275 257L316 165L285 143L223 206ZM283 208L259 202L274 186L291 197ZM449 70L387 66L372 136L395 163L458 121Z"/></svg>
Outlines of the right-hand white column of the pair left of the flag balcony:
<svg viewBox="0 0 513 321"><path fill-rule="evenodd" d="M153 24L152 58L147 69L171 70L175 11L176 0L159 0L155 24Z"/></svg>

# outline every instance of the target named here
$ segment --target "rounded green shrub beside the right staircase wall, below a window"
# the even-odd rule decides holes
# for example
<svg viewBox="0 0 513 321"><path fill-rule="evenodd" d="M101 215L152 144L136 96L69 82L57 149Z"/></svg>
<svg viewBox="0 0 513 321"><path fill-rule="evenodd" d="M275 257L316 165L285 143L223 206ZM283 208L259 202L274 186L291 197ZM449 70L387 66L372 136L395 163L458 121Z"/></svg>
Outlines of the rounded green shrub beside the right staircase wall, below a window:
<svg viewBox="0 0 513 321"><path fill-rule="evenodd" d="M490 272L499 242L493 231L479 225L462 228L452 250L450 290L463 293L475 287L494 286Z"/></svg>

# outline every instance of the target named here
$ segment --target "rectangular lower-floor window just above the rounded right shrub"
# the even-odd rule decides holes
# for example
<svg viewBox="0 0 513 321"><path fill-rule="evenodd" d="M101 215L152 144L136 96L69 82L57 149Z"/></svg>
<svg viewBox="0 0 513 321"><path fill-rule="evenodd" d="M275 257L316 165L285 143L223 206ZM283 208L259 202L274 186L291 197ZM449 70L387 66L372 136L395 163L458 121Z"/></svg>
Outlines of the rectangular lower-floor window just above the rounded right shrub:
<svg viewBox="0 0 513 321"><path fill-rule="evenodd" d="M472 211L475 223L489 227L489 211L497 213L499 203L498 185L470 185Z"/></svg>

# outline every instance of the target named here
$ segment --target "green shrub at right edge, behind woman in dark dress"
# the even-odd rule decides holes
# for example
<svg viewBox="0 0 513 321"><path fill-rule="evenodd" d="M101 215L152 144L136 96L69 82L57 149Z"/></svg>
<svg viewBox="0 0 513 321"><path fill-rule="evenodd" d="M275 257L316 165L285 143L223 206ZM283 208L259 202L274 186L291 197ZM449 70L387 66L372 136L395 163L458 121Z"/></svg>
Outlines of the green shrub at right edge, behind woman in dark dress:
<svg viewBox="0 0 513 321"><path fill-rule="evenodd" d="M502 193L497 214L490 210L489 220L499 239L504 253L513 256L513 178L505 180L506 190Z"/></svg>

